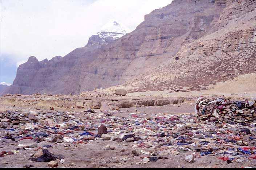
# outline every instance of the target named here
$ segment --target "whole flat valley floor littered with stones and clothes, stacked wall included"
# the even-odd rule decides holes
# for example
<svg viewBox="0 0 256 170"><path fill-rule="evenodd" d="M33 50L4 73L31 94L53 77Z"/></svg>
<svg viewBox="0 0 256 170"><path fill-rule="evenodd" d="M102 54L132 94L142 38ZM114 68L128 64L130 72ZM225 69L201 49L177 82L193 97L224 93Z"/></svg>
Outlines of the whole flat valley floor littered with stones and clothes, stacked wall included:
<svg viewBox="0 0 256 170"><path fill-rule="evenodd" d="M7 95L0 98L0 167L255 168L254 105L225 108L226 101ZM240 108L241 119L225 115Z"/></svg>

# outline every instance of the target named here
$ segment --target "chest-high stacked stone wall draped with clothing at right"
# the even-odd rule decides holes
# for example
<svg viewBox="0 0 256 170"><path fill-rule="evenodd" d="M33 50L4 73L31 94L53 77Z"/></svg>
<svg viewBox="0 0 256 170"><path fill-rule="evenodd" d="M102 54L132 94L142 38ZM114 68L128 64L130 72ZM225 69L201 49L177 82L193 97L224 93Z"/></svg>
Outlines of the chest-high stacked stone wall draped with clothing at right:
<svg viewBox="0 0 256 170"><path fill-rule="evenodd" d="M195 104L195 114L200 120L220 123L256 123L256 98L231 101L200 97Z"/></svg>

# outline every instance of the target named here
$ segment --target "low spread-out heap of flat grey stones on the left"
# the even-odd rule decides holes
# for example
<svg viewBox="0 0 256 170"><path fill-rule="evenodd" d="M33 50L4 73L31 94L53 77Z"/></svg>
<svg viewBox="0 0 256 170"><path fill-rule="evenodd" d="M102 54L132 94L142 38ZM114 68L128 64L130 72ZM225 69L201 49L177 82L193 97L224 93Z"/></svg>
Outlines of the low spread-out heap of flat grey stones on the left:
<svg viewBox="0 0 256 170"><path fill-rule="evenodd" d="M78 119L64 112L34 112L34 111L2 111L0 112L0 128L18 128L21 126L55 127L57 124L77 124Z"/></svg>

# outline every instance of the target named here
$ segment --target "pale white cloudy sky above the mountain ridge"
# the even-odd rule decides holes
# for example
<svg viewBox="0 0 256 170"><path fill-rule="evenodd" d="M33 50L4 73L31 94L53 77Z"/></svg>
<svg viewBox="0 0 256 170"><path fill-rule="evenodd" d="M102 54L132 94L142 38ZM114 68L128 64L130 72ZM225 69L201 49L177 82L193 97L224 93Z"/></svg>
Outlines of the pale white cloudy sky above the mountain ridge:
<svg viewBox="0 0 256 170"><path fill-rule="evenodd" d="M134 30L145 14L171 1L0 0L0 82L12 83L4 79L8 65L32 55L39 61L65 56L112 19Z"/></svg>

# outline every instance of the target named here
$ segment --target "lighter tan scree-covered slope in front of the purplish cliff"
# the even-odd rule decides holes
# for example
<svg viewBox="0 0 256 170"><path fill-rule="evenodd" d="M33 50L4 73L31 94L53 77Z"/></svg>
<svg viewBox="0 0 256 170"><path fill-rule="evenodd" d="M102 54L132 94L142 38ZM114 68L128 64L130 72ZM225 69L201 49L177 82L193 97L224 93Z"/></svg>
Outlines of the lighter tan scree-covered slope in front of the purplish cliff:
<svg viewBox="0 0 256 170"><path fill-rule="evenodd" d="M199 91L256 72L255 5L255 0L229 4L213 28L218 28L216 32L186 43L166 64L130 80L124 87L138 92Z"/></svg>

